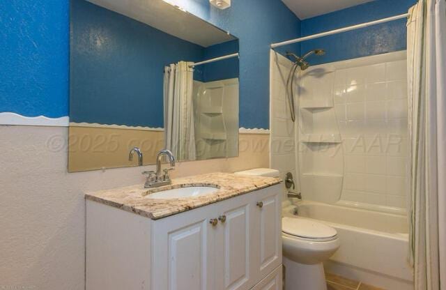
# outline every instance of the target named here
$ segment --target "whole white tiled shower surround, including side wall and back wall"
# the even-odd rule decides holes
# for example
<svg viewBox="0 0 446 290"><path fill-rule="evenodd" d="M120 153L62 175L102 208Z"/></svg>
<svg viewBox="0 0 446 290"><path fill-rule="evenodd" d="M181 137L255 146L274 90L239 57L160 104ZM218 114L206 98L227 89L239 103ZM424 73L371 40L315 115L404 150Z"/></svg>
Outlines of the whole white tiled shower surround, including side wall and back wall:
<svg viewBox="0 0 446 290"><path fill-rule="evenodd" d="M271 167L300 172L304 199L405 208L406 51L302 71L296 125L285 90L292 63L271 60Z"/></svg>

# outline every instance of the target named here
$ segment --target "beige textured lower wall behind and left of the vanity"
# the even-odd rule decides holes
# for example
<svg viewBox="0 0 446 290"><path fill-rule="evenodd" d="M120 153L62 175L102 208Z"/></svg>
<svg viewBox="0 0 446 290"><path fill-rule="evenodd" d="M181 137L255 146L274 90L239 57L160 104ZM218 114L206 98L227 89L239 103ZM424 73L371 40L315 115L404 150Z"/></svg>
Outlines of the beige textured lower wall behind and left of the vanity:
<svg viewBox="0 0 446 290"><path fill-rule="evenodd" d="M268 138L240 135L240 157L181 162L174 177L268 167ZM84 192L143 183L153 169L68 174L67 142L68 128L0 125L0 288L83 290Z"/></svg>

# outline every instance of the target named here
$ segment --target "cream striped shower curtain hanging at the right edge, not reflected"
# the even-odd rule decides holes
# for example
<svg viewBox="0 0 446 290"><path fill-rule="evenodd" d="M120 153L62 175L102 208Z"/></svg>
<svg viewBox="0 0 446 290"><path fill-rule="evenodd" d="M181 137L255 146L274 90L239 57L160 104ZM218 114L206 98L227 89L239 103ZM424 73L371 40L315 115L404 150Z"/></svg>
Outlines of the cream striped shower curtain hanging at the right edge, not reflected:
<svg viewBox="0 0 446 290"><path fill-rule="evenodd" d="M416 290L446 290L446 3L408 20L409 260Z"/></svg>

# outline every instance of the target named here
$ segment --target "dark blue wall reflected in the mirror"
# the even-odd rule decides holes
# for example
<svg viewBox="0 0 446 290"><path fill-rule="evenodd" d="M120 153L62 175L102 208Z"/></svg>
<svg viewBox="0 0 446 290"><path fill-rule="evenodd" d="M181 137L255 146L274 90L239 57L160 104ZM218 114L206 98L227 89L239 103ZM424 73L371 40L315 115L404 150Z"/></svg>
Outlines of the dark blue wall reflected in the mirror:
<svg viewBox="0 0 446 290"><path fill-rule="evenodd" d="M238 40L201 47L88 1L73 0L70 121L163 127L163 70L238 52ZM210 77L238 77L238 61ZM232 65L232 66L229 66ZM201 68L201 67L198 67ZM206 69L197 78L208 79Z"/></svg>

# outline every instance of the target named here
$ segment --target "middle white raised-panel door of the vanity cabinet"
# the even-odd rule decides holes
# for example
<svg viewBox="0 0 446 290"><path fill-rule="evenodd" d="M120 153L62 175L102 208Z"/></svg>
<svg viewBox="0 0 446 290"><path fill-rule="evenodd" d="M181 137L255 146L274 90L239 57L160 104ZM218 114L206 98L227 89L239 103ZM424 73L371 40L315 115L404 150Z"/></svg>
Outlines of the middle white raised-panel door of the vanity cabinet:
<svg viewBox="0 0 446 290"><path fill-rule="evenodd" d="M216 236L217 259L215 282L217 290L250 289L252 280L252 194L220 202Z"/></svg>

